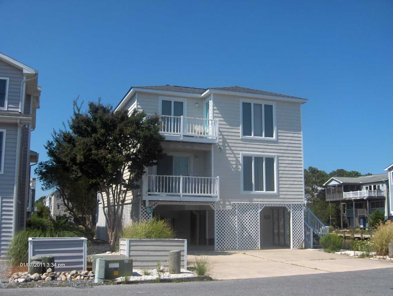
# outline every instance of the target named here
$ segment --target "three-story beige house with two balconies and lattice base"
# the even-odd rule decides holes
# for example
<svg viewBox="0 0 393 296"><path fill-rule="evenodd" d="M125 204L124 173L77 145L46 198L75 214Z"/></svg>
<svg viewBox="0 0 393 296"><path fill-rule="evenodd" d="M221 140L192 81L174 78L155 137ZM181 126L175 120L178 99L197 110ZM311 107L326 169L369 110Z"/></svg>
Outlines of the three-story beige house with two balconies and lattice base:
<svg viewBox="0 0 393 296"><path fill-rule="evenodd" d="M306 102L239 86L131 87L116 110L159 114L167 155L127 196L123 223L158 216L189 245L215 250L312 246L326 228L304 207ZM104 210L99 239L107 239Z"/></svg>

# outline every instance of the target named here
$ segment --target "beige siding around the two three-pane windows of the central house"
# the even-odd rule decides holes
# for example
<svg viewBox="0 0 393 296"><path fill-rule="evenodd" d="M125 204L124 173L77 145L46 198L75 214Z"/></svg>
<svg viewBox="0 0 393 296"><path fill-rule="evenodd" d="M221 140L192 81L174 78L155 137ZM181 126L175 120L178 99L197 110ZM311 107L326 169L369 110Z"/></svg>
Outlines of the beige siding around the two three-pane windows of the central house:
<svg viewBox="0 0 393 296"><path fill-rule="evenodd" d="M231 202L303 202L301 104L276 101L277 141L240 138L240 98L215 94L219 152L214 145L214 176L220 177L220 205ZM277 194L241 194L241 152L277 154Z"/></svg>

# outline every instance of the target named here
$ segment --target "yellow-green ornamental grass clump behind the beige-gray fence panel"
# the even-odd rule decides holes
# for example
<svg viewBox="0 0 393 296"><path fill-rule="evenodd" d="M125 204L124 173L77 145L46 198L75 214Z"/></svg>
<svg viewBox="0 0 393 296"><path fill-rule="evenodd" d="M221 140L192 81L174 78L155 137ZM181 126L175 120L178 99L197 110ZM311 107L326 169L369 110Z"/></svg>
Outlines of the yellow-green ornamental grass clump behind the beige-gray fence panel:
<svg viewBox="0 0 393 296"><path fill-rule="evenodd" d="M135 222L124 226L120 234L122 239L173 239L174 230L165 220L157 218Z"/></svg>

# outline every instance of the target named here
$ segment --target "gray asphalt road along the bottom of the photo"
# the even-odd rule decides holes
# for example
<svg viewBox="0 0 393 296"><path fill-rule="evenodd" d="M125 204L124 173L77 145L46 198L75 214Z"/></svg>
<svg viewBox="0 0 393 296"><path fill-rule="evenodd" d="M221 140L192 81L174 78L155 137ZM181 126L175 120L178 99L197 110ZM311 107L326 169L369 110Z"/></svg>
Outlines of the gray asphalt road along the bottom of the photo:
<svg viewBox="0 0 393 296"><path fill-rule="evenodd" d="M1 296L391 296L393 268L224 281L96 286L93 288L3 289Z"/></svg>

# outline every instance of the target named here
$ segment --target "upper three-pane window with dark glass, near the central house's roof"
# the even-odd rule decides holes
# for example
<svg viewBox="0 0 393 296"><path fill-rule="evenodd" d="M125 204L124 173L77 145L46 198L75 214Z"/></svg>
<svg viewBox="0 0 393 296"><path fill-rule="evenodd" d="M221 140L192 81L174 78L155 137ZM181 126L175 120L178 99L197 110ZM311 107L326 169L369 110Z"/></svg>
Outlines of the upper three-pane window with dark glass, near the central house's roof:
<svg viewBox="0 0 393 296"><path fill-rule="evenodd" d="M241 138L275 140L275 102L240 99Z"/></svg>

